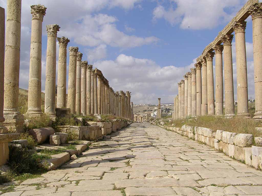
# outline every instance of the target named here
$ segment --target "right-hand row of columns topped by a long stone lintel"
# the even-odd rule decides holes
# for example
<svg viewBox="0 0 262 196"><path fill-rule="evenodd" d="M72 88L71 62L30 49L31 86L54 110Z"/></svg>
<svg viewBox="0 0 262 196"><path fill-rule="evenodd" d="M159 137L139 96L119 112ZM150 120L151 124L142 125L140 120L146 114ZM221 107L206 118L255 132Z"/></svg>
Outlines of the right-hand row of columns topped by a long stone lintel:
<svg viewBox="0 0 262 196"><path fill-rule="evenodd" d="M178 83L178 95L174 99L173 118L203 115L224 115L229 118L235 116L232 65L232 40L234 35L236 42L237 70L236 115L247 118L250 116L248 111L248 81L245 47L245 28L247 22L245 19L251 15L253 25L255 85L255 114L253 118L262 119L262 3L254 2L256 1L249 0L244 5L241 12L234 17L234 19L219 33L215 40L205 48L202 55L197 58L195 68L191 68L191 72L184 75L185 80L181 80L181 82ZM233 32L234 35L232 34ZM216 59L215 88L213 77L214 56ZM191 81L189 80L189 75L191 75ZM223 97L224 94L225 97ZM223 101L224 99L225 101ZM186 100L188 101L187 103L185 103Z"/></svg>

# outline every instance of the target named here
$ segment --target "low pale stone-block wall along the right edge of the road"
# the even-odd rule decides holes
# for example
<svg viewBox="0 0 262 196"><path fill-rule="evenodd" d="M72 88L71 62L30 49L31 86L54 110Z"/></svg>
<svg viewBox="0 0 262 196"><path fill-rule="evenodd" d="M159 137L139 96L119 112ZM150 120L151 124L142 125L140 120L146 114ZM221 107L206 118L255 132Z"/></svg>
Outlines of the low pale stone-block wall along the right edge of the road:
<svg viewBox="0 0 262 196"><path fill-rule="evenodd" d="M155 124L155 122L152 124ZM260 147L261 143L256 142L261 141L261 137L254 138L252 134L237 134L222 130L213 131L208 128L189 125L183 125L182 128L161 124L156 125L175 131L195 141L203 142L233 159L262 170L262 147ZM254 141L256 146L254 146Z"/></svg>

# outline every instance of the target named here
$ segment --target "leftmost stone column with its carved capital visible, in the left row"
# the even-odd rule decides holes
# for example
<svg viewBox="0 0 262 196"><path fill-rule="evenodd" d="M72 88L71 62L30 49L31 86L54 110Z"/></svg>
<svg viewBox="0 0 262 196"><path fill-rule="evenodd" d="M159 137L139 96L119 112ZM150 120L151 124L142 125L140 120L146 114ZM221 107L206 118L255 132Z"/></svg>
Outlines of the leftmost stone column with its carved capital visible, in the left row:
<svg viewBox="0 0 262 196"><path fill-rule="evenodd" d="M46 15L44 5L31 5L32 28L29 63L28 110L27 117L40 117L41 110L41 70L42 70L42 22Z"/></svg>

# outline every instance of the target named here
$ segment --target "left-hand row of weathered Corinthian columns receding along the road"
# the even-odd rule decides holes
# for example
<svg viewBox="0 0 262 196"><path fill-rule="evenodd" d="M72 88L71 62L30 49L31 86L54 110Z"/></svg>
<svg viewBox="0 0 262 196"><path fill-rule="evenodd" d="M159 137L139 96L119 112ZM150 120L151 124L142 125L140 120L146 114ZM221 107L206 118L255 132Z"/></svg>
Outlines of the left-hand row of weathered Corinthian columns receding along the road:
<svg viewBox="0 0 262 196"><path fill-rule="evenodd" d="M23 131L25 118L39 118L41 108L42 72L42 22L46 15L44 5L31 5L32 27L29 64L28 110L25 115L18 109L21 0L7 0L6 34L0 31L0 123ZM4 27L4 9L0 7L1 30ZM2 24L3 23L3 24ZM70 40L57 37L60 27L47 25L46 83L44 112L51 119L56 118L56 108L70 108L76 115L113 114L132 119L131 93L115 92L108 80L88 61L82 61L83 54L78 47L69 47L68 95L66 95L67 45ZM4 47L5 39L5 47ZM56 41L59 44L57 95L56 95ZM4 69L4 70L3 70ZM4 88L3 88L3 87ZM57 98L56 98L57 97ZM6 119L6 120L5 120ZM2 125L2 124L0 124ZM0 126L1 127L1 126ZM1 128L0 128L1 129Z"/></svg>

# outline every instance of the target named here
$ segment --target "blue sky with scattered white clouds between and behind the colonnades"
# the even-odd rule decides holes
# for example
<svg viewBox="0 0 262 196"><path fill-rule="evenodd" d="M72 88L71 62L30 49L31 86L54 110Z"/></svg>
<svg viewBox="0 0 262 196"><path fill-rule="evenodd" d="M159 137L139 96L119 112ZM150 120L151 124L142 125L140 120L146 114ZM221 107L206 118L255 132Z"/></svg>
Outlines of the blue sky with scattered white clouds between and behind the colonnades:
<svg viewBox="0 0 262 196"><path fill-rule="evenodd" d="M245 2L247 0L23 1L20 88L28 88L32 4L47 7L42 34L42 91L45 91L45 26L58 24L61 27L58 37L68 37L68 47L78 46L84 54L82 60L99 68L115 91L130 90L134 103L156 104L158 97L162 103L173 101L178 93L177 82ZM6 0L0 0L0 6L6 8ZM246 42L249 97L254 97L250 17ZM57 59L58 49L57 43ZM235 63L234 41L232 50ZM213 64L215 68L215 59ZM233 67L236 91L236 65Z"/></svg>

